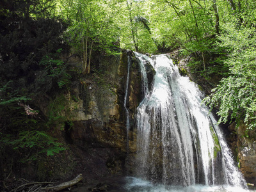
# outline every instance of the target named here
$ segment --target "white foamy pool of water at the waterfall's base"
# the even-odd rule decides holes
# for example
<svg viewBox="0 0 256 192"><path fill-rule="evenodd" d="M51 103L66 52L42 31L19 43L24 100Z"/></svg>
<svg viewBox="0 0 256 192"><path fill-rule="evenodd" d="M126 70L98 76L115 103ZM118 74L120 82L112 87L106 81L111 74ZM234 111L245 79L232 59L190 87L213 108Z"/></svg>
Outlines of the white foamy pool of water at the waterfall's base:
<svg viewBox="0 0 256 192"><path fill-rule="evenodd" d="M147 180L136 177L127 177L127 183L124 190L127 192L245 192L255 191L239 188L237 186L204 186L194 185L188 187L182 186L164 186L163 184L152 184Z"/></svg>

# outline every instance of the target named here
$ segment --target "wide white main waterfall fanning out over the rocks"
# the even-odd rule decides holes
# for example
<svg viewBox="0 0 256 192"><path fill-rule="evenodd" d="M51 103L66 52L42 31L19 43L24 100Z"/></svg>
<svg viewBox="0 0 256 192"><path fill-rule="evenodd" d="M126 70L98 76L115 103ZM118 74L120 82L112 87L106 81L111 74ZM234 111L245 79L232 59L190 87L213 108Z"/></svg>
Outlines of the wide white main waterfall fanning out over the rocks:
<svg viewBox="0 0 256 192"><path fill-rule="evenodd" d="M180 76L165 54L135 54L145 95L136 116L136 175L165 185L245 186L221 129L201 104L196 84ZM145 62L156 70L152 86Z"/></svg>

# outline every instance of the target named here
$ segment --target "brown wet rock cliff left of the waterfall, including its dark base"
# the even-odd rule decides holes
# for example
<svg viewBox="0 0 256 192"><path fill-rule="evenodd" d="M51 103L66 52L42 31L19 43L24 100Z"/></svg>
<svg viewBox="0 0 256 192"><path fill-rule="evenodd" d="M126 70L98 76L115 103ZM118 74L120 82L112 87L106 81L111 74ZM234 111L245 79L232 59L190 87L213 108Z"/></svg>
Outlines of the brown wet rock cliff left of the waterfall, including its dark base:
<svg viewBox="0 0 256 192"><path fill-rule="evenodd" d="M131 157L136 152L133 125L136 108L142 99L140 66L133 52L93 58L98 72L84 77L76 88L65 94L67 108L60 114L68 123L65 123L63 134L68 144L81 150L79 158L84 159L84 174L122 175L127 167L127 154ZM128 58L131 58L131 66L126 90ZM126 91L131 123L129 136L124 108Z"/></svg>

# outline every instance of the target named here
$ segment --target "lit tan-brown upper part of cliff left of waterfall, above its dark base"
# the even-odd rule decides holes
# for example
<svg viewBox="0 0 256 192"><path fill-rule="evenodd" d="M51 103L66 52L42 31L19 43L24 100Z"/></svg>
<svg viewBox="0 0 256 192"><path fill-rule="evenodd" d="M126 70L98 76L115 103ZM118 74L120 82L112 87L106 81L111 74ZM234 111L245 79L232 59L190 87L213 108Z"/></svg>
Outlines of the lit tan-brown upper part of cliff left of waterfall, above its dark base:
<svg viewBox="0 0 256 192"><path fill-rule="evenodd" d="M118 148L127 152L126 117L124 113L125 84L127 80L128 56L132 52L123 51L119 56L98 56L97 65L102 74L93 74L81 81L81 86L73 90L77 98L69 98L72 108L70 119L71 138L76 145L87 147ZM131 82L129 83L127 108L131 118L140 102L140 71L138 63L132 60ZM133 132L130 133L133 138ZM135 150L135 140L129 141L129 152Z"/></svg>

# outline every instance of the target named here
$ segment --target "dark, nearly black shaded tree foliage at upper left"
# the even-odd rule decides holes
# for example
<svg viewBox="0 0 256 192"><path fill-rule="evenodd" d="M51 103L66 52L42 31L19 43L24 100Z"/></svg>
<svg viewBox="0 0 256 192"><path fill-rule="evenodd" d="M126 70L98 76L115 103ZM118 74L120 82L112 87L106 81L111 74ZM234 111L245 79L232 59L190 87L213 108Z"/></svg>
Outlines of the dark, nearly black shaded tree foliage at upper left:
<svg viewBox="0 0 256 192"><path fill-rule="evenodd" d="M64 49L65 45L61 43L60 38L61 31L58 31L63 30L61 29L63 26L55 19L18 19L9 26L13 30L9 31L6 28L0 34L1 83L12 81L10 83L12 91L28 97L31 97L32 93L38 94L38 90L49 90L48 87L52 83L37 81L38 77L49 72L49 68L39 63L46 55L57 54L56 49L61 47ZM24 34L23 31L26 33ZM56 56L54 60L58 60ZM63 74L64 71L61 72ZM58 79L55 81L58 82ZM42 95L42 92L40 94Z"/></svg>

